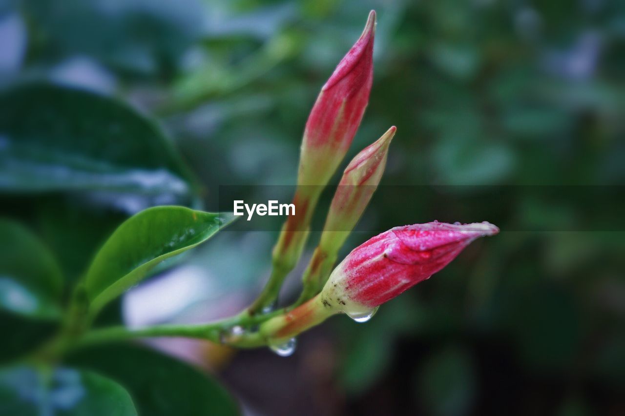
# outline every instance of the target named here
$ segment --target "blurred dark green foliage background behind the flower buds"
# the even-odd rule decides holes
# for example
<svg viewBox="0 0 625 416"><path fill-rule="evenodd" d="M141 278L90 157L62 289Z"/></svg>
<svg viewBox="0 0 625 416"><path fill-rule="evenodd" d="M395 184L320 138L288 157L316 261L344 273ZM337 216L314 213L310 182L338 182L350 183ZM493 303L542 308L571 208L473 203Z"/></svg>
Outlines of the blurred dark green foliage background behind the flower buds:
<svg viewBox="0 0 625 416"><path fill-rule="evenodd" d="M212 372L250 415L625 414L621 0L0 0L0 214L74 281L138 210L216 210L219 186L294 184L308 111L369 9L374 85L347 158L397 126L379 194L407 191L374 196L344 252L407 222L500 219L501 234L367 324L337 317L307 332L288 358L150 344ZM562 197L546 201L551 190ZM462 199L471 209L451 203ZM19 257L7 235L2 260ZM233 314L261 289L275 237L222 232L99 324ZM54 332L37 314L68 289L39 288L30 313L0 281L8 362ZM133 351L73 360L104 368L142 414L173 414L166 392L196 390L173 380L136 393L142 382L111 357L137 373L159 365ZM184 371L171 374L192 384ZM178 414L204 414L202 391Z"/></svg>

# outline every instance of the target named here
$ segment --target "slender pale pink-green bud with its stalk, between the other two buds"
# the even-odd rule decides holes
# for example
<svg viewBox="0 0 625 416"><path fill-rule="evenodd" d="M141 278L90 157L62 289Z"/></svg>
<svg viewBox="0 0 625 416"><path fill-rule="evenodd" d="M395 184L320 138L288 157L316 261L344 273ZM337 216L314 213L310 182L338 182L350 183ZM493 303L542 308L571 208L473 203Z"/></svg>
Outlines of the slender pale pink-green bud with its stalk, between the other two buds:
<svg viewBox="0 0 625 416"><path fill-rule="evenodd" d="M384 173L386 157L396 127L365 147L349 162L334 193L319 246L304 272L304 290L297 304L317 294L326 282L339 249L371 201Z"/></svg>

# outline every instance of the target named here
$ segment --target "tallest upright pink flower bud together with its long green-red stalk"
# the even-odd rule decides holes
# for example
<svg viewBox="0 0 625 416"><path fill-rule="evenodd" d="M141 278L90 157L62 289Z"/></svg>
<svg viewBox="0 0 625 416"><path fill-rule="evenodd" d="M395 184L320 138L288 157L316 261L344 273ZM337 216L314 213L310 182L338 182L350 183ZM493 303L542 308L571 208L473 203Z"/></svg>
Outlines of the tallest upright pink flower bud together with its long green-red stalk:
<svg viewBox="0 0 625 416"><path fill-rule="evenodd" d="M304 129L297 190L293 198L296 215L289 217L272 251L269 282L249 307L256 314L277 296L286 275L301 256L319 195L336 171L356 135L373 82L373 39L376 12L359 39L321 88Z"/></svg>

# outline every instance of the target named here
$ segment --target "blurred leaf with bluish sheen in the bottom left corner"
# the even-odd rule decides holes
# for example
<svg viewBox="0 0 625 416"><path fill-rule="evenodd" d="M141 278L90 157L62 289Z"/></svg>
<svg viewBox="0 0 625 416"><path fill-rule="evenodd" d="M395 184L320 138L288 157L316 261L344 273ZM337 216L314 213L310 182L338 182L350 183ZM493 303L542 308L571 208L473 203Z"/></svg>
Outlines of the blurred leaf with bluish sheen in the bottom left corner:
<svg viewBox="0 0 625 416"><path fill-rule="evenodd" d="M0 370L0 414L131 416L137 412L128 392L99 374L20 366Z"/></svg>

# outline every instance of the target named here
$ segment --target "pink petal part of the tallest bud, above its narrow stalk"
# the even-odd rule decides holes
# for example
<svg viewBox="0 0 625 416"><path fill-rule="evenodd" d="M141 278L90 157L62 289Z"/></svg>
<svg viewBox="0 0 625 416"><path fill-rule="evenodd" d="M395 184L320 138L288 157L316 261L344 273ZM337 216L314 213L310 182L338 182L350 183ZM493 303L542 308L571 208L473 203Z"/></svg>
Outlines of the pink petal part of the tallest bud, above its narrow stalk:
<svg viewBox="0 0 625 416"><path fill-rule="evenodd" d="M325 185L341 163L362 120L373 82L376 12L322 87L306 122L297 182Z"/></svg>

